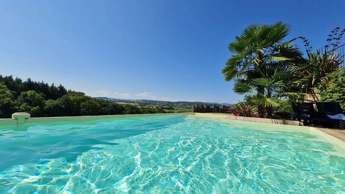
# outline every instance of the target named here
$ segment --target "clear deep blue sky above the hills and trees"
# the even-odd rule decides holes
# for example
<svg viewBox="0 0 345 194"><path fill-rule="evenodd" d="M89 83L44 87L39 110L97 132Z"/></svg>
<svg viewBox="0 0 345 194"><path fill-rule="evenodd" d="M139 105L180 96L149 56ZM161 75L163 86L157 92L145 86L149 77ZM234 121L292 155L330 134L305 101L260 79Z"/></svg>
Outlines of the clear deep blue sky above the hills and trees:
<svg viewBox="0 0 345 194"><path fill-rule="evenodd" d="M220 71L235 36L281 20L292 25L288 39L321 47L345 28L344 2L1 1L0 74L94 97L233 103L242 96Z"/></svg>

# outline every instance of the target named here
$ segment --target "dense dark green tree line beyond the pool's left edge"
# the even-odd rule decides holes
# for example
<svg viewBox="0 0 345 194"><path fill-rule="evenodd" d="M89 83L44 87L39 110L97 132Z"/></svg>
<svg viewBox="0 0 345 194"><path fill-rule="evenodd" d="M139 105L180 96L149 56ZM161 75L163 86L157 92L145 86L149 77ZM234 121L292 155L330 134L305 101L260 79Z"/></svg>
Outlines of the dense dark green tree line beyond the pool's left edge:
<svg viewBox="0 0 345 194"><path fill-rule="evenodd" d="M159 108L92 98L61 84L0 75L0 118L11 118L15 112L27 112L31 117L167 113Z"/></svg>

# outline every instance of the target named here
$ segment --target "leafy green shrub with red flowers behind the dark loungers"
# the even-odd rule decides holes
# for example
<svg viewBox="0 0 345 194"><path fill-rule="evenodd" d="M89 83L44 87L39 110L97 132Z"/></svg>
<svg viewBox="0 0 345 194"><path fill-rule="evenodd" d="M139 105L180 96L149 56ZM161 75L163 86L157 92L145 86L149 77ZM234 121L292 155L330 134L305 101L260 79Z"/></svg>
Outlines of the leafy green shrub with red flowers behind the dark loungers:
<svg viewBox="0 0 345 194"><path fill-rule="evenodd" d="M320 101L339 102L345 110L345 68L328 74L319 84Z"/></svg>

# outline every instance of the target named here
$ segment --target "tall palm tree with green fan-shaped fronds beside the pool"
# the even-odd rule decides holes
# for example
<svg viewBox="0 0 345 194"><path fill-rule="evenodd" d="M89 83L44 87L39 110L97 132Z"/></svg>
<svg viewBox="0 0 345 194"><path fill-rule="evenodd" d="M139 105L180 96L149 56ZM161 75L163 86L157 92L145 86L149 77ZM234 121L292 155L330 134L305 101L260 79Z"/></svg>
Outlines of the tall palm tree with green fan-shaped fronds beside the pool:
<svg viewBox="0 0 345 194"><path fill-rule="evenodd" d="M234 55L222 70L225 81L235 80L237 94L253 94L262 117L270 117L280 99L297 101L302 95L294 67L304 66L306 60L293 43L297 38L284 41L290 30L280 21L250 25L228 46Z"/></svg>

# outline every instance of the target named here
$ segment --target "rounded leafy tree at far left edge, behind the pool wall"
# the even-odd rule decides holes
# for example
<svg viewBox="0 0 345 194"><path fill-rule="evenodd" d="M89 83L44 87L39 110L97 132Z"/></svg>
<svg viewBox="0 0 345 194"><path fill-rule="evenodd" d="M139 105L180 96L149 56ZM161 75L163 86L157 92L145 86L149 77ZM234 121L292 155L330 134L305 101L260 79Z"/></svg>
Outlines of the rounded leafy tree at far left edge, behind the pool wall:
<svg viewBox="0 0 345 194"><path fill-rule="evenodd" d="M13 112L13 94L4 84L0 83L0 118L9 118Z"/></svg>

